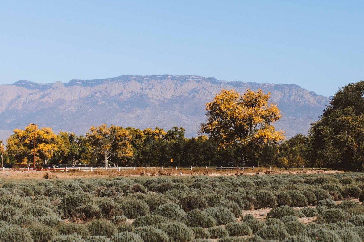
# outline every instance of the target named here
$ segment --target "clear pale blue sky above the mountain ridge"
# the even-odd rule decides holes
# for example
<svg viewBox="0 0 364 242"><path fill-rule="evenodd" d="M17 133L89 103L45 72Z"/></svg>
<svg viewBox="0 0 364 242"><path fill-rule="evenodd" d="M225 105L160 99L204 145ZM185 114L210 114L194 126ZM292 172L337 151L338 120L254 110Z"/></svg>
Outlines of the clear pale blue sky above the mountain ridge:
<svg viewBox="0 0 364 242"><path fill-rule="evenodd" d="M2 1L0 84L123 74L364 79L364 1Z"/></svg>

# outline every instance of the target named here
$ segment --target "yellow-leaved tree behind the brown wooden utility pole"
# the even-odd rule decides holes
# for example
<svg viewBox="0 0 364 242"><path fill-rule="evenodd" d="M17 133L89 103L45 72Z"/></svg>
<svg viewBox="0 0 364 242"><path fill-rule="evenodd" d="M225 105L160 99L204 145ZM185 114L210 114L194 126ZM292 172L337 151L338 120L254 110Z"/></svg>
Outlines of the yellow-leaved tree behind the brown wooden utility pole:
<svg viewBox="0 0 364 242"><path fill-rule="evenodd" d="M27 163L33 160L34 134L36 136L35 156L36 163L47 164L58 150L58 140L51 128L35 129L28 125L25 129L14 129L14 134L7 140L7 152L18 163Z"/></svg>

